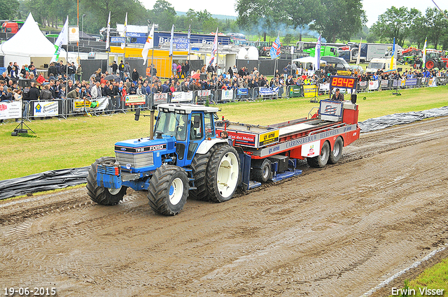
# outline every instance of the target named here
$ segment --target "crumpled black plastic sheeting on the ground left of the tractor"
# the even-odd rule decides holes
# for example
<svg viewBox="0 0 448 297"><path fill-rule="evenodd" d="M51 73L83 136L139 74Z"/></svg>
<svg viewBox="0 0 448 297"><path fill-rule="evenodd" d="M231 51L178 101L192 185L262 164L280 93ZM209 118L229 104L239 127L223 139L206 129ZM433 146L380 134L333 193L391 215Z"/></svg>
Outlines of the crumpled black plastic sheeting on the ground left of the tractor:
<svg viewBox="0 0 448 297"><path fill-rule="evenodd" d="M14 196L76 186L86 182L90 166L45 171L23 178L0 180L0 200Z"/></svg>

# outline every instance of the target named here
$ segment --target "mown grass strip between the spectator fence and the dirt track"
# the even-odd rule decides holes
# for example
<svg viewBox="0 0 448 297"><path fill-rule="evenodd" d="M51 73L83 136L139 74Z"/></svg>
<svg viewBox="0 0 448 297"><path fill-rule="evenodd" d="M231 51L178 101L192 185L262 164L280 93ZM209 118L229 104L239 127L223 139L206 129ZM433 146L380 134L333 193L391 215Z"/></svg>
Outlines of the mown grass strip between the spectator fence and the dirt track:
<svg viewBox="0 0 448 297"><path fill-rule="evenodd" d="M391 91L358 94L359 120L448 106L446 93L447 87L443 86L402 90L402 96L391 95ZM328 95L319 97L325 98ZM218 105L218 115L232 122L267 125L307 117L309 110L317 106L305 98L237 102ZM0 180L89 166L99 157L113 156L117 141L149 136L148 117L135 122L133 113L34 120L27 124L37 137L11 136L17 126L12 121L0 126Z"/></svg>

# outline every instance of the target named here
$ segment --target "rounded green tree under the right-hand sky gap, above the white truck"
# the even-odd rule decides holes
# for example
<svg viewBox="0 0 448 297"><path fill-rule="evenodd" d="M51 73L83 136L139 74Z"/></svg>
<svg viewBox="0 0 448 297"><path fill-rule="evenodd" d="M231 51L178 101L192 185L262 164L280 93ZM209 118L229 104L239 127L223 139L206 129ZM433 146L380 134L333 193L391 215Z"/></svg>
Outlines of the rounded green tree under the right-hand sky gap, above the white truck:
<svg viewBox="0 0 448 297"><path fill-rule="evenodd" d="M418 17L421 17L421 12L416 8L409 10L404 6L400 8L392 6L379 15L377 22L370 29L381 41L391 43L395 38L395 43L404 46L405 39L411 33L412 24Z"/></svg>

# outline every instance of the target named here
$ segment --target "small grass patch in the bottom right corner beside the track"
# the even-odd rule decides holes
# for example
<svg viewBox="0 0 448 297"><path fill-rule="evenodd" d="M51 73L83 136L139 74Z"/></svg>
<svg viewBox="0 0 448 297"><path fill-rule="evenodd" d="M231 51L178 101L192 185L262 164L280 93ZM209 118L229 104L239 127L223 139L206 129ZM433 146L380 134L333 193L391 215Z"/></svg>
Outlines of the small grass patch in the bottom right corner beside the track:
<svg viewBox="0 0 448 297"><path fill-rule="evenodd" d="M415 295L412 296L426 296L421 295L419 288L428 289L443 289L443 295L448 294L448 259L443 259L440 263L423 271L415 280L408 282L409 289L415 290ZM404 286L403 286L404 287ZM400 289L402 289L401 287ZM391 295L392 296L392 295Z"/></svg>

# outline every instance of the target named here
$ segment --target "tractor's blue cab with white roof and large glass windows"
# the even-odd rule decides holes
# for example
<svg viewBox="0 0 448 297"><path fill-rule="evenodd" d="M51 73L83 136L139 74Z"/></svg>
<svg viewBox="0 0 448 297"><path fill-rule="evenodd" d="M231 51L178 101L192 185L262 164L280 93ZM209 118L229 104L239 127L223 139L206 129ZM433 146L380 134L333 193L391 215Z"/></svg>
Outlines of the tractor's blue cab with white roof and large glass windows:
<svg viewBox="0 0 448 297"><path fill-rule="evenodd" d="M216 139L214 117L218 108L193 104L160 104L155 138L175 138L176 165L188 166L202 143Z"/></svg>

